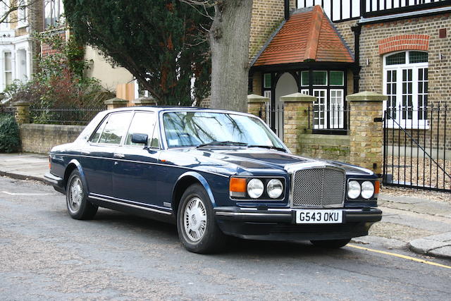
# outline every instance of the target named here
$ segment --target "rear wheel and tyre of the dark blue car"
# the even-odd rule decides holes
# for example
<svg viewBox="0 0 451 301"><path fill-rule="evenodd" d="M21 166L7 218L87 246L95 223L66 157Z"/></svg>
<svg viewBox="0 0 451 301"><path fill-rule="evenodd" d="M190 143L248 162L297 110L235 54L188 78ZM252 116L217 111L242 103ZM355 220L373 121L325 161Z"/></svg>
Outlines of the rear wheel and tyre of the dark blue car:
<svg viewBox="0 0 451 301"><path fill-rule="evenodd" d="M68 213L73 219L92 219L97 213L98 207L87 199L87 189L76 169L69 176L66 187L66 205Z"/></svg>

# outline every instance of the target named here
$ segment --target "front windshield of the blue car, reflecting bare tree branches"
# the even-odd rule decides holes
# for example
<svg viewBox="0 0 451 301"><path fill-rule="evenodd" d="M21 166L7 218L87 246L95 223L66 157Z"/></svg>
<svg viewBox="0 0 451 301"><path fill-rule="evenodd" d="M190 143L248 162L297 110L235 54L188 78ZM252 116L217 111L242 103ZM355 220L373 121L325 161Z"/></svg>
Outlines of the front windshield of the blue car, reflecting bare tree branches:
<svg viewBox="0 0 451 301"><path fill-rule="evenodd" d="M168 147L237 145L285 149L258 118L233 113L178 111L163 114Z"/></svg>

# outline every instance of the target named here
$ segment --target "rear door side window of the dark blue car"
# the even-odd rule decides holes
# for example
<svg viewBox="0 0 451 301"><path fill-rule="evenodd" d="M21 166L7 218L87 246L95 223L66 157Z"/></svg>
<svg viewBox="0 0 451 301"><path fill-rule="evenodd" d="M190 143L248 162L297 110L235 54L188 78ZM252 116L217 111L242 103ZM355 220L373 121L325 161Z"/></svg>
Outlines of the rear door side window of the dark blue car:
<svg viewBox="0 0 451 301"><path fill-rule="evenodd" d="M118 145L127 132L132 112L113 113L106 121L105 128L100 135L99 143ZM95 134L94 134L95 135Z"/></svg>

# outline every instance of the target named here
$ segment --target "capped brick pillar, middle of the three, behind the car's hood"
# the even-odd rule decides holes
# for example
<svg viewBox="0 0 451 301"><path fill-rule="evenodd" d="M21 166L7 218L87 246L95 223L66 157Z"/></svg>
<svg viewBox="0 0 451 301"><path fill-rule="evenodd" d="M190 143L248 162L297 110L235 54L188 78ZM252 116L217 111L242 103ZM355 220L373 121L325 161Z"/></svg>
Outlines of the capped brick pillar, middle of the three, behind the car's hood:
<svg viewBox="0 0 451 301"><path fill-rule="evenodd" d="M280 97L283 102L283 142L291 152L299 154L299 135L309 132L309 106L316 97L293 93Z"/></svg>

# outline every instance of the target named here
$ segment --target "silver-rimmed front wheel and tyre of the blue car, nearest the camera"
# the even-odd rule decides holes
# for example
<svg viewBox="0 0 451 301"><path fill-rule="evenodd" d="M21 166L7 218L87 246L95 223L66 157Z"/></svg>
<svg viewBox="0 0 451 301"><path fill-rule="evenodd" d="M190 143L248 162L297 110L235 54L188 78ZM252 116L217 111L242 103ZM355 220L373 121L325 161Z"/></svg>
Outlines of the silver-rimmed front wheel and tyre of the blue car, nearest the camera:
<svg viewBox="0 0 451 301"><path fill-rule="evenodd" d="M190 252L218 252L226 244L226 235L216 223L211 200L199 184L191 185L182 195L177 231L183 246Z"/></svg>

